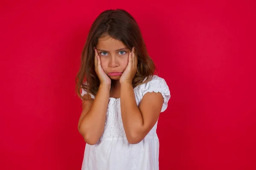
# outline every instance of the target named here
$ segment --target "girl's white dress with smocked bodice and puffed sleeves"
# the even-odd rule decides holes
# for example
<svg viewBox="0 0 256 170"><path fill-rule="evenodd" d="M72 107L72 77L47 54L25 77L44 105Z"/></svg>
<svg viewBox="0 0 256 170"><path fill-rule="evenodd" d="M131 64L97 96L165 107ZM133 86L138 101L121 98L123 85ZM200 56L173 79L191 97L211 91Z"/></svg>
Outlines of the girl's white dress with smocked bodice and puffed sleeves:
<svg viewBox="0 0 256 170"><path fill-rule="evenodd" d="M166 81L154 75L150 82L134 88L137 105L148 92L162 94L164 101L161 112L165 111L171 97ZM82 96L86 93L82 90ZM81 169L159 170L159 140L156 129L157 122L140 143L129 144L122 124L120 99L110 98L104 132L95 145L85 145Z"/></svg>

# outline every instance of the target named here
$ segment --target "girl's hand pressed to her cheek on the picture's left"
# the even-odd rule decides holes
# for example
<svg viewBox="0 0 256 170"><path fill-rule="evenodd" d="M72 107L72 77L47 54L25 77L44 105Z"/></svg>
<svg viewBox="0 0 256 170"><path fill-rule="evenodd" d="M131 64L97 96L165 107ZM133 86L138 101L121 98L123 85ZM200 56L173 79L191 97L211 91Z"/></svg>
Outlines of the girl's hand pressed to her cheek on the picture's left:
<svg viewBox="0 0 256 170"><path fill-rule="evenodd" d="M101 61L100 61L100 57L99 57L97 49L94 49L94 52L95 52L94 66L95 66L96 74L99 77L100 84L111 85L111 79L104 72L104 70L101 66Z"/></svg>

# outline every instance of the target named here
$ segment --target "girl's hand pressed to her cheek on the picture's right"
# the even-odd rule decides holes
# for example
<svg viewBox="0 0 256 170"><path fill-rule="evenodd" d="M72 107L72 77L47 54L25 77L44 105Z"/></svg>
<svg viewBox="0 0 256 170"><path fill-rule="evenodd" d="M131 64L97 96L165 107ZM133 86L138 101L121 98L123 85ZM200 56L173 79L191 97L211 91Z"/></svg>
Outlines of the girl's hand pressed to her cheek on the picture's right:
<svg viewBox="0 0 256 170"><path fill-rule="evenodd" d="M131 49L131 52L128 56L128 65L125 68L125 71L123 72L122 76L119 79L119 82L128 82L132 83L132 80L136 74L137 71L137 56L135 55L134 47Z"/></svg>

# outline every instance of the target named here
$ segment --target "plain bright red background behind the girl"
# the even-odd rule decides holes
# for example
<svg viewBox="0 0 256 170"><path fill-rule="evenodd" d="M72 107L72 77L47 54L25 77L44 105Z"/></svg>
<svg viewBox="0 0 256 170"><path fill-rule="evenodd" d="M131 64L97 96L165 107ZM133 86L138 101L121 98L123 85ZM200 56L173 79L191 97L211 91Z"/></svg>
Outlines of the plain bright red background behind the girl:
<svg viewBox="0 0 256 170"><path fill-rule="evenodd" d="M81 168L75 76L90 25L109 8L135 17L171 91L160 170L255 170L253 0L2 0L0 169Z"/></svg>

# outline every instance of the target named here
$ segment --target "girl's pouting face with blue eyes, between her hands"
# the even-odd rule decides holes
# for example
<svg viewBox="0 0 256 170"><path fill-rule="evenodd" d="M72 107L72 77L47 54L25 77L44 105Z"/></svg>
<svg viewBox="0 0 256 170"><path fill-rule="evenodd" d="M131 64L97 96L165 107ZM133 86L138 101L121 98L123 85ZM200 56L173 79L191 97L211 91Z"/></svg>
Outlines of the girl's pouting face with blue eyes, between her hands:
<svg viewBox="0 0 256 170"><path fill-rule="evenodd" d="M105 73L111 79L120 79L128 64L128 54L131 50L110 36L99 38L96 49Z"/></svg>

